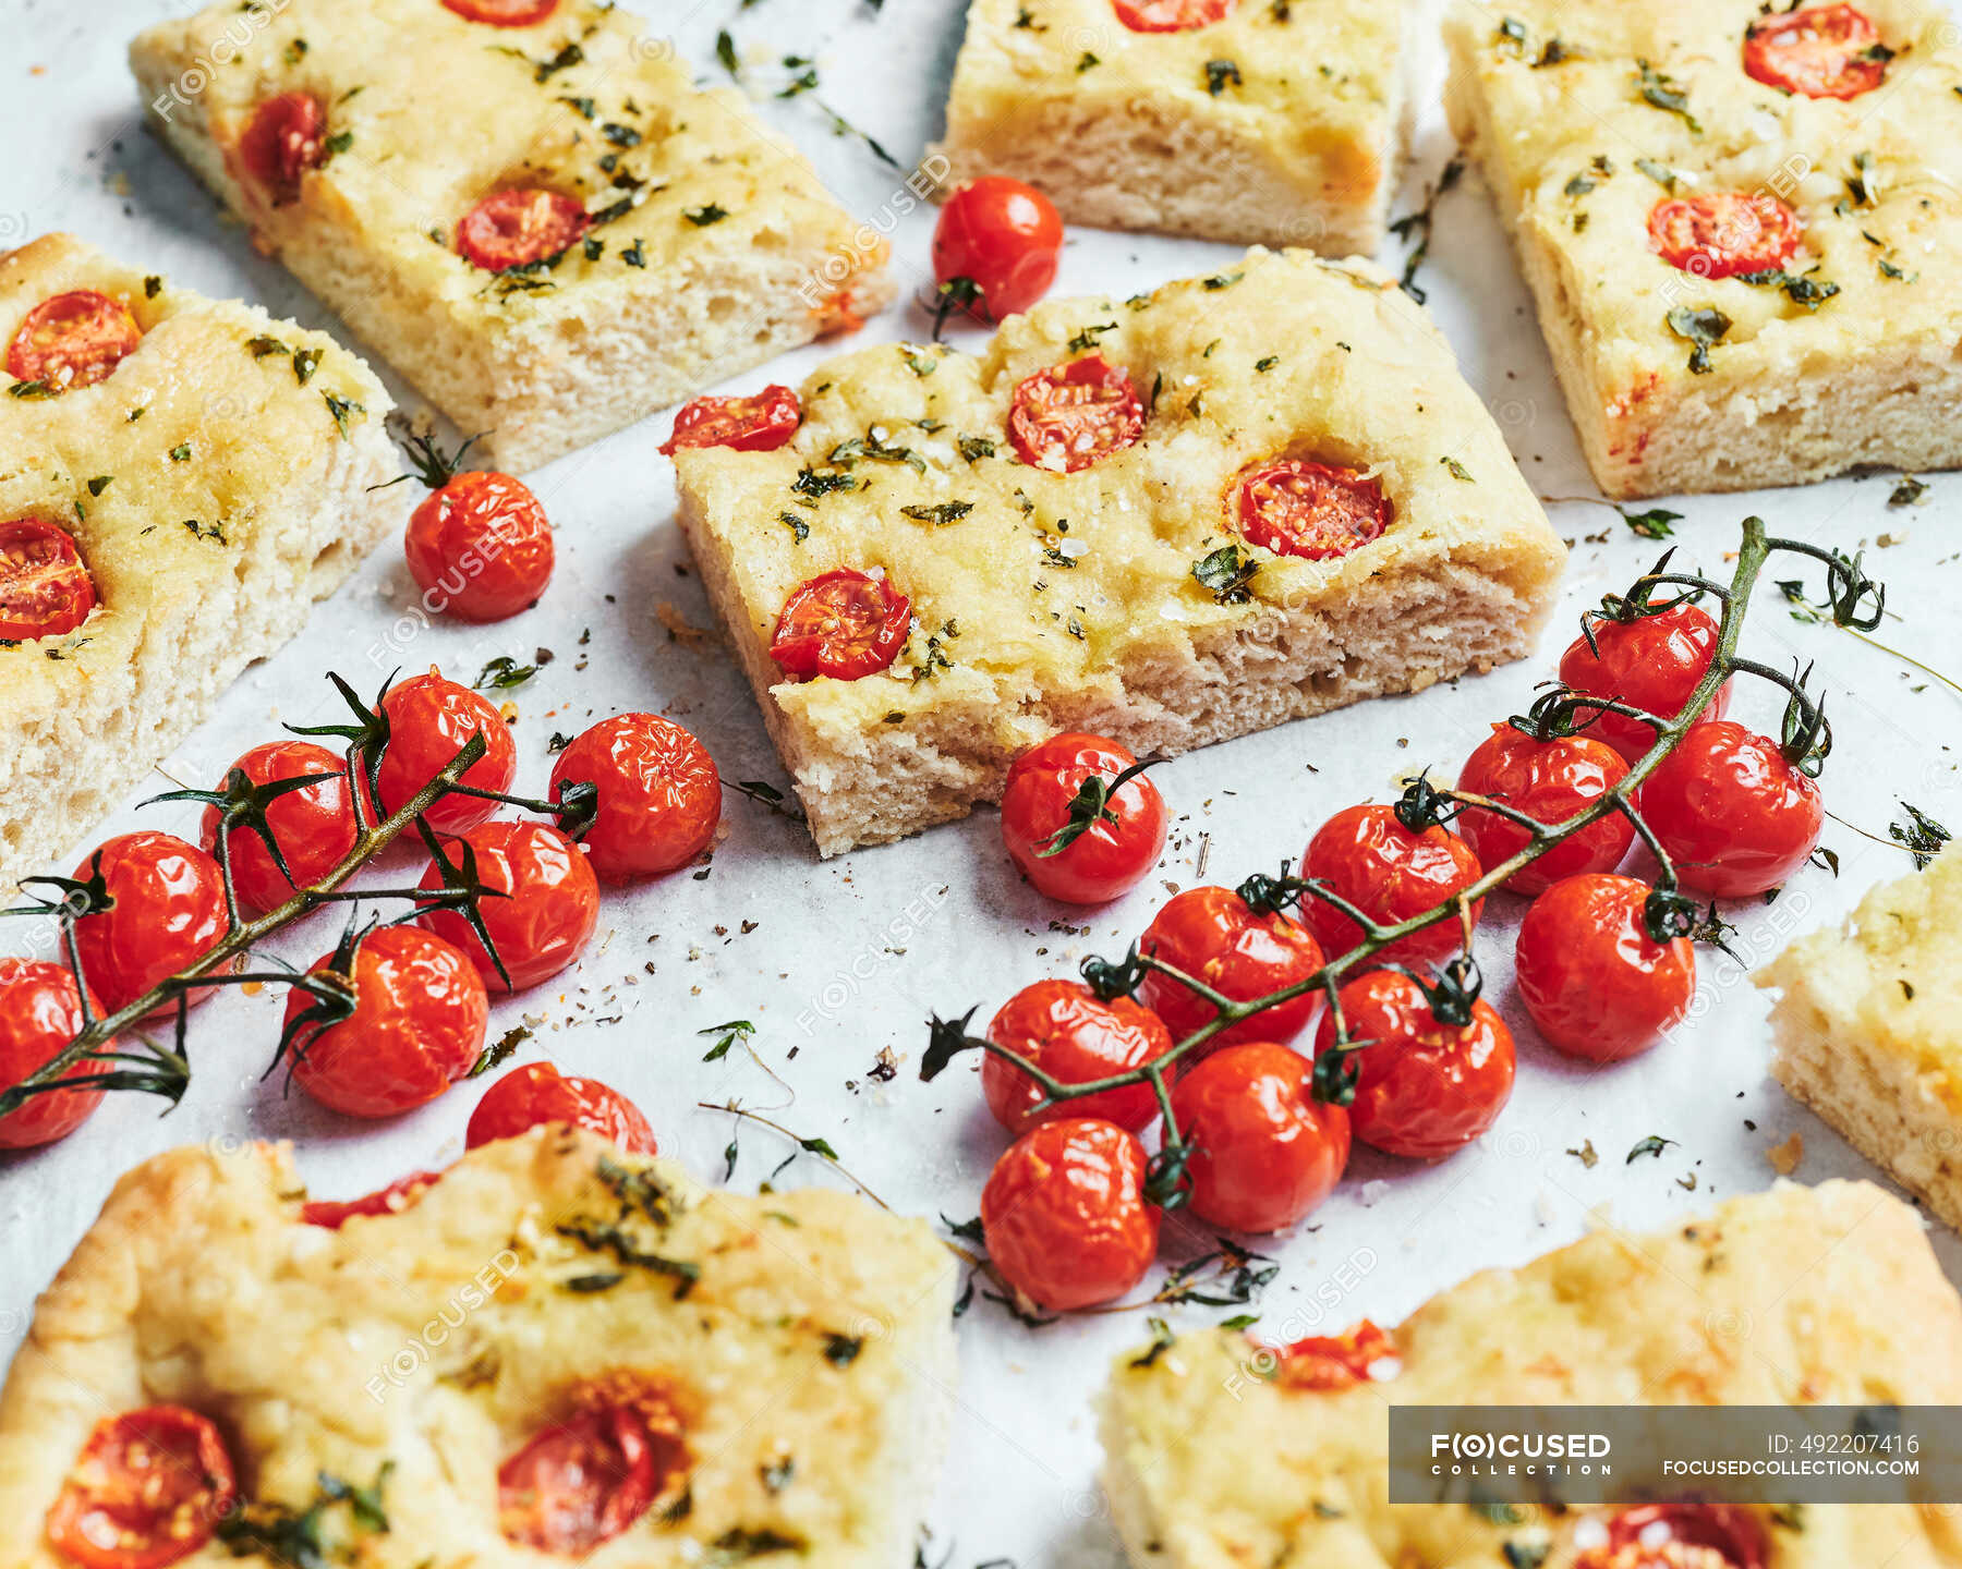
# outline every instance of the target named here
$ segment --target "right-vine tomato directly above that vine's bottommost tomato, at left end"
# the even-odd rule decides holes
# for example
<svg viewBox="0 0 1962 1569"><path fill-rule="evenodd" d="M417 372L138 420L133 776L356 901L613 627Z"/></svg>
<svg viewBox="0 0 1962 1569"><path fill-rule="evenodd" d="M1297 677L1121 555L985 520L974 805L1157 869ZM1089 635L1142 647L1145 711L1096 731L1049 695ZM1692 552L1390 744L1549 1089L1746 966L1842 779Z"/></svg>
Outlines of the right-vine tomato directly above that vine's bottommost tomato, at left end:
<svg viewBox="0 0 1962 1569"><path fill-rule="evenodd" d="M1077 981L1038 981L1022 987L995 1014L987 1038L1065 1085L1128 1073L1171 1051L1171 1034L1158 1014L1140 1008L1128 996L1105 1002ZM1158 1096L1150 1085L1059 1100L1038 1112L1042 1088L993 1051L981 1059L981 1092L995 1120L1010 1134L1026 1134L1038 1122L1085 1116L1138 1134L1158 1116Z"/></svg>

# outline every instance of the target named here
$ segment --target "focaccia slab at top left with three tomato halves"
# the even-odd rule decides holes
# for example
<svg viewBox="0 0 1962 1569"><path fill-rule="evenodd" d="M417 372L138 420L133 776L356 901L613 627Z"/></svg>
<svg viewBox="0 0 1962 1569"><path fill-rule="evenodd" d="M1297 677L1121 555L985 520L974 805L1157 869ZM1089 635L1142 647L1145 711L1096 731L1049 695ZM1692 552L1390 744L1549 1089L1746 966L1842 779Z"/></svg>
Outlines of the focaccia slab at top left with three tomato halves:
<svg viewBox="0 0 1962 1569"><path fill-rule="evenodd" d="M885 241L598 0L220 0L129 63L261 249L502 469L891 298Z"/></svg>

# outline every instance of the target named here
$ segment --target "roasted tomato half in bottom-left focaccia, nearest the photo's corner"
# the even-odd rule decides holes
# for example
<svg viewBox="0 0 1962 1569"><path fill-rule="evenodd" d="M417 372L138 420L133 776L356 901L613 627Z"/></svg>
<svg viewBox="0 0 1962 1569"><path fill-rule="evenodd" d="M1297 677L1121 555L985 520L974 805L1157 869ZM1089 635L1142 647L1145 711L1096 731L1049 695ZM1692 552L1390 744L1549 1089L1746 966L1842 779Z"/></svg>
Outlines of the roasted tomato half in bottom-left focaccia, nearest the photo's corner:
<svg viewBox="0 0 1962 1569"><path fill-rule="evenodd" d="M80 1569L163 1569L210 1542L235 1498L210 1418L145 1406L96 1422L47 1510L47 1540Z"/></svg>

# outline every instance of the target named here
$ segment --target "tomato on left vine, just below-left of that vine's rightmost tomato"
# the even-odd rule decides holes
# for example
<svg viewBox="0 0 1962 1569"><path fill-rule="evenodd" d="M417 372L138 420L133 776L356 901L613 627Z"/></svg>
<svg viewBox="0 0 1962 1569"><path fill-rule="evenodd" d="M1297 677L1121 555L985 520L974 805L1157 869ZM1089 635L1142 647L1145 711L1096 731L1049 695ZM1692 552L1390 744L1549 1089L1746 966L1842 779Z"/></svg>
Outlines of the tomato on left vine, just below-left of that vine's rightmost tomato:
<svg viewBox="0 0 1962 1569"><path fill-rule="evenodd" d="M463 843L477 855L477 879L485 888L508 894L485 898L477 908L510 987L457 910L428 910L418 920L455 943L496 992L536 987L577 963L600 918L600 885L579 845L549 824L504 820L479 824L443 853L459 863ZM443 869L434 861L422 886L443 886Z"/></svg>

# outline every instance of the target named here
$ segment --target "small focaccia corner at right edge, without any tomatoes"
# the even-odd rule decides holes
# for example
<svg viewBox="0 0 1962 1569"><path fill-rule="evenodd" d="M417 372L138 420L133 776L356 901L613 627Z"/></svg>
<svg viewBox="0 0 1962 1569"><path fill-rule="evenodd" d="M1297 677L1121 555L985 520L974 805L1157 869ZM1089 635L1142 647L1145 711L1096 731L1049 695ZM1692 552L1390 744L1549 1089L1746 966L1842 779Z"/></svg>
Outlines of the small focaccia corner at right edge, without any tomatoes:
<svg viewBox="0 0 1962 1569"><path fill-rule="evenodd" d="M1962 1230L1962 849L1754 979L1780 992L1772 1077Z"/></svg>

